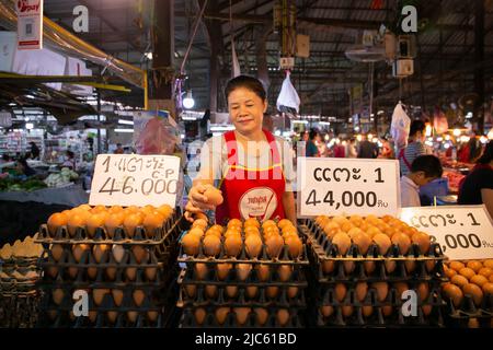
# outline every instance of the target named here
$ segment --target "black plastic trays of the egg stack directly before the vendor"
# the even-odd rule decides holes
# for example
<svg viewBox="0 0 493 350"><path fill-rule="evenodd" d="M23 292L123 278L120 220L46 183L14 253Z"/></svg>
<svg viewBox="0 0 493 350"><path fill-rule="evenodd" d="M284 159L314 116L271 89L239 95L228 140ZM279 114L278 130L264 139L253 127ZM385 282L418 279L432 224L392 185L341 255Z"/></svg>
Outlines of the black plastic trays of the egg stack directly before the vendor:
<svg viewBox="0 0 493 350"><path fill-rule="evenodd" d="M301 240L303 238L302 235L299 236ZM270 311L270 323L267 322L266 327L282 327L277 322L274 322L275 314L279 308L287 307L290 307L289 313L293 319L290 319L288 324L283 327L300 327L301 324L305 323L303 311L307 307L305 289L308 287L308 282L305 277L305 268L309 265L306 244L303 244L301 254L296 259L289 257L287 245L283 246L279 257L273 259L267 255L267 247L265 245L263 236L261 236L261 238L262 250L259 257L253 259L248 256L244 244L237 257L230 257L226 254L223 241L221 241L220 253L215 257L206 256L206 254L204 253L203 244L199 245L198 254L196 256L186 256L183 252L183 247L181 247L177 261L186 265L185 278L180 281L182 288L179 305L184 306L183 317L181 322L182 327L264 327L256 322L254 313L252 313L252 315L249 315L246 325L238 325L234 320L234 315L229 315L227 317L227 322L225 322L223 325L218 325L217 322L211 322L211 319L215 318L214 312L217 307L249 307L249 305L252 307L266 307ZM208 269L209 272L207 278L198 279L194 275L196 264L207 264L208 266L213 266L213 268ZM230 273L227 276L227 279L223 281L219 281L216 276L216 266L219 264L233 265L233 269L231 269ZM234 267L238 264L252 265L251 272L249 273L249 277L245 281L240 281L236 276ZM268 280L266 282L261 282L255 270L255 266L259 264L272 265L276 268L282 265L291 265L294 267L291 277L288 281L280 282L277 279L278 277L275 272L276 269L272 268ZM187 295L185 291L184 287L190 284L197 285L197 293L194 298L190 298L190 295ZM207 301L207 299L205 298L204 289L207 284L218 285L218 296L216 298L216 300ZM238 298L236 300L231 300L226 295L225 288L227 285L237 285L239 288ZM257 285L260 290L257 296L254 300L249 300L245 295L244 289L246 287L253 285ZM265 290L268 287L279 287L279 293L275 300L271 300L265 295ZM295 299L287 298L287 289L289 287L298 287L298 293ZM205 307L205 305L207 305L207 307ZM206 320L203 325L197 325L193 316L194 311L197 307L204 307L207 311Z"/></svg>

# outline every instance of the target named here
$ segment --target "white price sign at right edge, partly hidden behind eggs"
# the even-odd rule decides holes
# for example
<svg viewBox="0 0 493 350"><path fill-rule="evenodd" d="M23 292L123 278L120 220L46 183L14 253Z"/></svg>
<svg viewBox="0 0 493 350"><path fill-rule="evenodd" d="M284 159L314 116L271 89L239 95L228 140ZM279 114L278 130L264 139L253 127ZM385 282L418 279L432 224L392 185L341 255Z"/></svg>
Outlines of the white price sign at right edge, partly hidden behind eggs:
<svg viewBox="0 0 493 350"><path fill-rule="evenodd" d="M493 258L493 221L484 206L402 208L400 217L432 235L451 260Z"/></svg>

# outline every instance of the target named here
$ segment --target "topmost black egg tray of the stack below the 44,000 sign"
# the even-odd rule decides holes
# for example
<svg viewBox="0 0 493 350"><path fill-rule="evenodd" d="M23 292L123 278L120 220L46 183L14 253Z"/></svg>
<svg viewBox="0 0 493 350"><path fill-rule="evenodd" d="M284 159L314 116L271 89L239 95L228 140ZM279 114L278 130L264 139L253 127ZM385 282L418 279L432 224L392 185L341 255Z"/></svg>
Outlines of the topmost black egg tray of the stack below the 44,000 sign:
<svg viewBox="0 0 493 350"><path fill-rule="evenodd" d="M307 244L320 256L321 260L445 260L446 257L442 247L437 243L429 245L428 252L421 252L420 246L413 243L405 255L401 254L399 246L392 244L386 255L379 253L378 245L375 243L368 247L366 256L359 253L356 244L352 244L344 256L341 256L336 244L332 244L323 231L311 220L305 225L299 225L299 230L307 236Z"/></svg>

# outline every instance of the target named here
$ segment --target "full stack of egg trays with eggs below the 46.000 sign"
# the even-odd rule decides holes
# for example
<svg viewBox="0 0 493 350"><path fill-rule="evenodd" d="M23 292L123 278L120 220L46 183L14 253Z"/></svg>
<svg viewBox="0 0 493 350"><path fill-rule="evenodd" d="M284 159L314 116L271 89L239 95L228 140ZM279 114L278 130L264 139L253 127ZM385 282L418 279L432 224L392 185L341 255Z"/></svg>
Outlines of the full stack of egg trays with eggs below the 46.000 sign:
<svg viewBox="0 0 493 350"><path fill-rule="evenodd" d="M51 215L37 240L45 249L39 325L168 326L177 299L179 218L169 206L84 205Z"/></svg>

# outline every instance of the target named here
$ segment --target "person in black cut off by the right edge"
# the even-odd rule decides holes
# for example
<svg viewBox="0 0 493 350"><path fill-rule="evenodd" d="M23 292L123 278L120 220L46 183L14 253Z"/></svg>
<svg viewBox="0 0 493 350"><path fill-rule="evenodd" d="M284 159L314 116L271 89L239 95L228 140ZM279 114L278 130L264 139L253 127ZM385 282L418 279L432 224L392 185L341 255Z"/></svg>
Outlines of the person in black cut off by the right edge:
<svg viewBox="0 0 493 350"><path fill-rule="evenodd" d="M459 205L485 205L493 218L493 141L486 143L472 172L459 185Z"/></svg>

